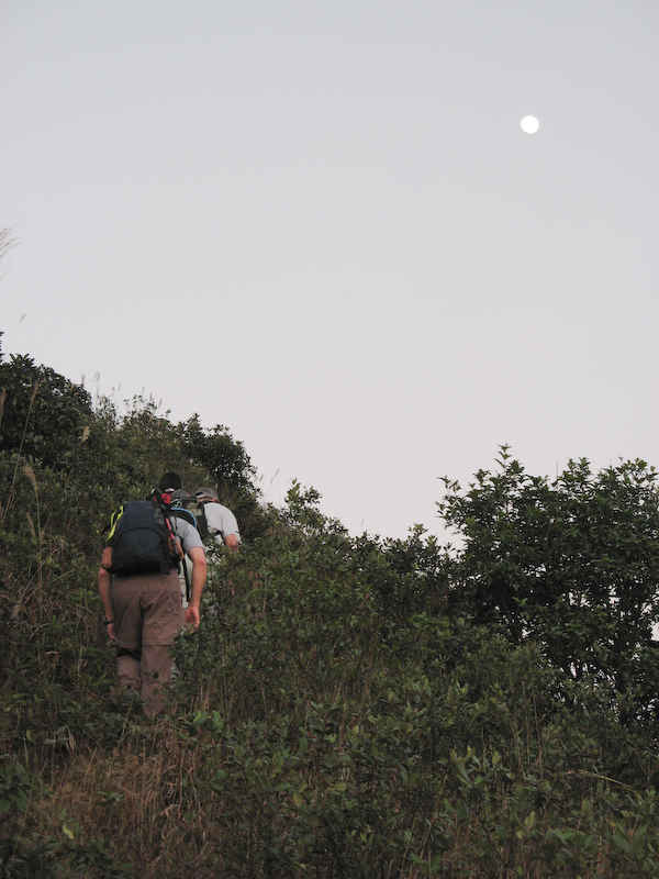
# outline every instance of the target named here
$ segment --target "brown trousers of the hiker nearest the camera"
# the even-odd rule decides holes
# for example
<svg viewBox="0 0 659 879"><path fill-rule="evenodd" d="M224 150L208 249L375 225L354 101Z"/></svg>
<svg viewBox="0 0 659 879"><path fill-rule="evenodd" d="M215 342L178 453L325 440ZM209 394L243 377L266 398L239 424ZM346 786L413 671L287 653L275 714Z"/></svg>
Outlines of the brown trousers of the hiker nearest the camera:
<svg viewBox="0 0 659 879"><path fill-rule="evenodd" d="M144 701L148 716L165 706L171 680L171 646L185 625L176 570L112 578L120 687Z"/></svg>

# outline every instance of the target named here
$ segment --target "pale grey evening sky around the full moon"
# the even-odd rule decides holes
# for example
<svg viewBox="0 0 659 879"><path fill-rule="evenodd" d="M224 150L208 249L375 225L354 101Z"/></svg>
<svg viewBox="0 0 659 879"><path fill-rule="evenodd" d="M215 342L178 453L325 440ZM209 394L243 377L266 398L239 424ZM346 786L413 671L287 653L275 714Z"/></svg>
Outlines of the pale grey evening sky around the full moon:
<svg viewBox="0 0 659 879"><path fill-rule="evenodd" d="M443 537L503 444L659 466L658 42L656 0L0 0L2 352L353 534Z"/></svg>

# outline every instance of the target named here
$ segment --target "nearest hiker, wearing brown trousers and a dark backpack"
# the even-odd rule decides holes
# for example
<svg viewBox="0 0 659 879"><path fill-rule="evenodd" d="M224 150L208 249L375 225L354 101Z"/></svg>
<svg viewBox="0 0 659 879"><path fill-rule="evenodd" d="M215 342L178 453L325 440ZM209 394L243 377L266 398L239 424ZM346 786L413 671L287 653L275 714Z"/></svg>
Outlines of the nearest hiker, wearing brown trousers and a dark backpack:
<svg viewBox="0 0 659 879"><path fill-rule="evenodd" d="M186 556L192 582L183 610L178 571ZM199 625L205 577L199 532L171 514L159 491L125 503L113 516L98 576L103 622L116 642L119 685L142 698L149 717L165 706L175 638L186 623Z"/></svg>

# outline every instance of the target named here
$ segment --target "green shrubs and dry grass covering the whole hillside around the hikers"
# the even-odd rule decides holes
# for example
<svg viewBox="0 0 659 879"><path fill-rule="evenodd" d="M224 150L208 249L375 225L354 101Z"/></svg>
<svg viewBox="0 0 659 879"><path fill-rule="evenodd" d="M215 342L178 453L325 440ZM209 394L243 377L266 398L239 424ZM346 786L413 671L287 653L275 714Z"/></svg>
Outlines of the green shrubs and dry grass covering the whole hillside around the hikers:
<svg viewBox="0 0 659 879"><path fill-rule="evenodd" d="M554 481L506 448L438 512L351 537L245 448L0 365L0 877L659 875L659 494L647 464ZM165 470L241 522L210 550L166 715L114 686L96 575Z"/></svg>

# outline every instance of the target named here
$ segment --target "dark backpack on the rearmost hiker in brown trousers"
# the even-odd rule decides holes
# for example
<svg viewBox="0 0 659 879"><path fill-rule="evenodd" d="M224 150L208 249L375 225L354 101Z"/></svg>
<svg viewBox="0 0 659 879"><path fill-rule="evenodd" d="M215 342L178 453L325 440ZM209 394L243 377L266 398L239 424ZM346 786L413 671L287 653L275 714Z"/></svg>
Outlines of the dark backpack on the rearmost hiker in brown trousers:
<svg viewBox="0 0 659 879"><path fill-rule="evenodd" d="M124 503L112 516L101 567L122 577L168 574L179 567L183 550L157 498Z"/></svg>

